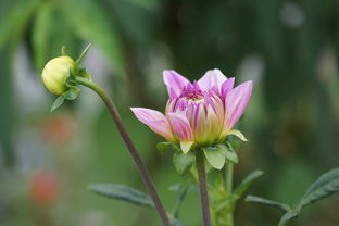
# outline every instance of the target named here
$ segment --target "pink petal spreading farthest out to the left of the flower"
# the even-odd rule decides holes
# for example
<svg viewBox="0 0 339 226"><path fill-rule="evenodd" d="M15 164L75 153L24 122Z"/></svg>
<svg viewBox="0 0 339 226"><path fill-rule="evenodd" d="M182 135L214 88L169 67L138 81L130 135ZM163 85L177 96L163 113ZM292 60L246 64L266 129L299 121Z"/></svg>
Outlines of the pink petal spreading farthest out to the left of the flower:
<svg viewBox="0 0 339 226"><path fill-rule="evenodd" d="M136 117L143 124L150 127L156 134L163 136L168 141L175 141L174 135L167 117L161 112L143 109L130 108Z"/></svg>

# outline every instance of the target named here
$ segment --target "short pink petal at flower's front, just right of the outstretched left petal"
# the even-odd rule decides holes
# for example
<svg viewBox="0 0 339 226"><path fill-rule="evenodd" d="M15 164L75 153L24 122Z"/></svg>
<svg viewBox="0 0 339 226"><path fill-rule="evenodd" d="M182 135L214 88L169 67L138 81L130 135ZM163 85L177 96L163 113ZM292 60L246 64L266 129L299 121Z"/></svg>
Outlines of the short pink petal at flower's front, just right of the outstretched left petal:
<svg viewBox="0 0 339 226"><path fill-rule="evenodd" d="M186 112L178 111L167 114L173 133L179 141L193 141L193 133L187 120Z"/></svg>

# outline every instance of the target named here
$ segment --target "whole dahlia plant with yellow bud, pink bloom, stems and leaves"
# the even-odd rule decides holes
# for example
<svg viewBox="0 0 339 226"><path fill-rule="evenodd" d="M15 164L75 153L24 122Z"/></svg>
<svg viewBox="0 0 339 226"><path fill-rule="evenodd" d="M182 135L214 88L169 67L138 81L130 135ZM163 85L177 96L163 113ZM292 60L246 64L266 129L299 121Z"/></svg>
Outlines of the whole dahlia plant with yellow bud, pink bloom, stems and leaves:
<svg viewBox="0 0 339 226"><path fill-rule="evenodd" d="M51 111L56 110L64 101L74 101L81 86L95 91L106 105L140 173L148 194L125 185L114 184L92 184L89 185L89 189L111 199L155 209L164 226L186 225L180 219L180 205L188 192L199 190L202 225L234 226L234 212L238 201L243 198L250 185L263 175L262 171L255 170L239 185L234 185L234 165L241 161L238 158L241 142L249 141L240 131L239 121L255 84L248 80L236 86L235 78L227 78L217 68L208 71L194 81L189 81L173 70L165 70L163 80L167 88L168 101L164 113L140 106L130 108L141 123L165 139L156 143L158 150L161 153L171 151L176 172L188 178L185 183L173 186L172 189L177 192L177 201L173 211L167 211L114 101L96 85L96 77L81 64L88 50L89 46L77 60L73 60L63 47L62 56L46 64L41 75L42 81L50 92L59 96ZM216 171L217 176L209 179L209 173L212 171ZM337 191L339 168L319 176L294 204L256 196L247 196L244 200L280 209L284 214L277 225L284 226L298 217L305 206Z"/></svg>

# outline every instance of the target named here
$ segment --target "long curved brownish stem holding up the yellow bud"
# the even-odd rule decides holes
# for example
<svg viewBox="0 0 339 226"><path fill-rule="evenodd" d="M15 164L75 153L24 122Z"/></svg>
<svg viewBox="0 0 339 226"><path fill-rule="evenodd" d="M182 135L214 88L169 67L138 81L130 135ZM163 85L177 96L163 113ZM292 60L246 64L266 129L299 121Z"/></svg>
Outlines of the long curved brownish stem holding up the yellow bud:
<svg viewBox="0 0 339 226"><path fill-rule="evenodd" d="M124 124L123 124L123 121L122 121L122 117L114 104L114 102L111 100L111 98L100 88L98 87L95 83L86 79L86 78L81 78L81 77L76 77L75 80L83 85L83 86L86 86L90 89L92 89L95 92L97 92L100 98L103 100L103 102L105 103L108 110L110 111L111 113L111 116L121 134L121 136L123 137L126 146L127 146L127 149L131 155L131 158L134 159L138 170L139 170L139 173L142 177L142 180L154 202L154 205L155 205L155 209L163 222L163 225L164 226L171 226L171 223L170 223L170 218L166 214L166 211L165 209L163 208L162 203L161 203L161 200L158 196L158 192L155 190L155 187L151 180L151 177L150 177L150 174L145 165L145 163L142 162L141 160L141 156L139 155L135 145L133 143Z"/></svg>

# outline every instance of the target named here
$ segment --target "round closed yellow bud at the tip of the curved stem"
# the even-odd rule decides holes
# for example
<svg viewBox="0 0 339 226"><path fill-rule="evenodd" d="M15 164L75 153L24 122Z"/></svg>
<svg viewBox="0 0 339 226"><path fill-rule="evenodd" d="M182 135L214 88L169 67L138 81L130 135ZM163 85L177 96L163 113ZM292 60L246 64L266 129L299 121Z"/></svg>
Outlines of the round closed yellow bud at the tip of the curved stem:
<svg viewBox="0 0 339 226"><path fill-rule="evenodd" d="M42 70L41 75L46 88L53 95L62 95L66 91L65 83L74 65L75 62L70 56L59 56L50 60Z"/></svg>

